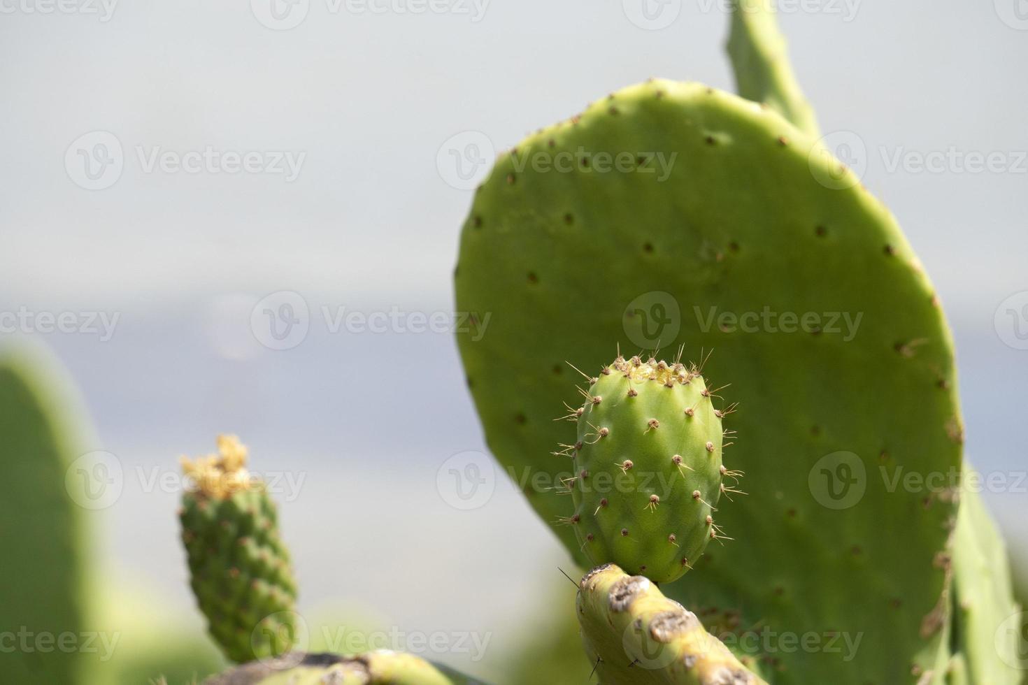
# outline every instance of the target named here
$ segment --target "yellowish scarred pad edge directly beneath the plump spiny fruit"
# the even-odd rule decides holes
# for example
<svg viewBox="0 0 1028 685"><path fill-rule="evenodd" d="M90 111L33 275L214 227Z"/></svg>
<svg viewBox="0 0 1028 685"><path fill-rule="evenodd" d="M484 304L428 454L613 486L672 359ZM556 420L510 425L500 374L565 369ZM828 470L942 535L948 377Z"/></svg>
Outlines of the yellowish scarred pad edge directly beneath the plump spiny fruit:
<svg viewBox="0 0 1028 685"><path fill-rule="evenodd" d="M645 576L614 564L594 568L576 604L600 685L766 685Z"/></svg>

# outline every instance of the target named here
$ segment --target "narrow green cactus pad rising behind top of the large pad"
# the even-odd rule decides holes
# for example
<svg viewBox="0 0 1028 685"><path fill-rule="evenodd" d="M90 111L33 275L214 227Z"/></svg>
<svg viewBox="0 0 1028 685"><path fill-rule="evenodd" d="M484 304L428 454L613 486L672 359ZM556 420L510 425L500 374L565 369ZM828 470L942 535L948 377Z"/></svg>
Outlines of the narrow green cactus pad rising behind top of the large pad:
<svg viewBox="0 0 1028 685"><path fill-rule="evenodd" d="M817 137L817 118L800 89L771 0L733 0L728 38L739 94L775 110Z"/></svg>

